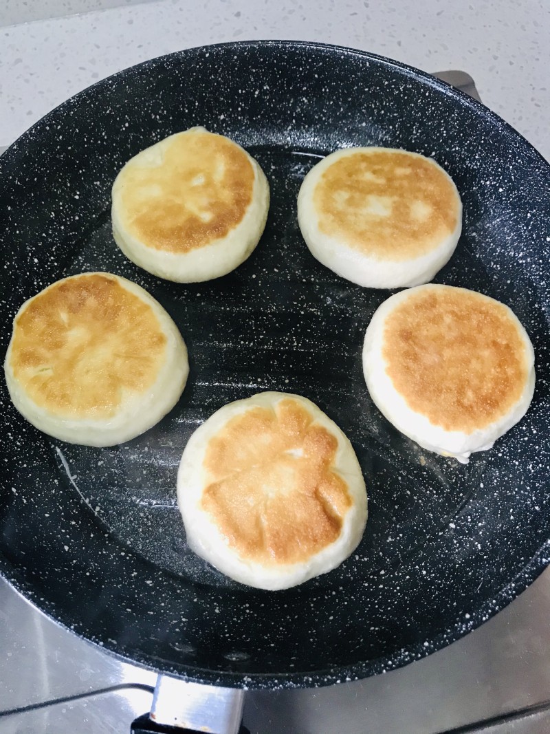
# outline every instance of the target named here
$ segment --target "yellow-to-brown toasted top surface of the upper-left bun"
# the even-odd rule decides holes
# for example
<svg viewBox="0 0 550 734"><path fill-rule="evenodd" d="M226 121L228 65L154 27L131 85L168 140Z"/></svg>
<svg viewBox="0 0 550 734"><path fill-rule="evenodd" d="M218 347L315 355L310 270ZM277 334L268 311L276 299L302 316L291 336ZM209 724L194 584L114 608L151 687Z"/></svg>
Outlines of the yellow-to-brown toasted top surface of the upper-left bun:
<svg viewBox="0 0 550 734"><path fill-rule="evenodd" d="M125 229L148 247L179 254L227 236L252 201L246 153L221 135L192 131L169 139L162 155L155 167L123 170Z"/></svg>

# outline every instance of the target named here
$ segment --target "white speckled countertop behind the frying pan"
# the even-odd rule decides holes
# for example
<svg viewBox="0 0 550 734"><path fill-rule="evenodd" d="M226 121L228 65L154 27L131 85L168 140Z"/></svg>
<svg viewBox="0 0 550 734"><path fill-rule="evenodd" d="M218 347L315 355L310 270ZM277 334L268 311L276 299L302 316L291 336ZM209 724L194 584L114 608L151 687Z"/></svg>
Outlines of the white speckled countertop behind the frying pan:
<svg viewBox="0 0 550 734"><path fill-rule="evenodd" d="M0 146L75 92L144 59L285 38L361 48L430 72L467 71L485 104L550 159L544 0L4 0L0 26Z"/></svg>

